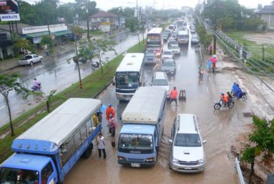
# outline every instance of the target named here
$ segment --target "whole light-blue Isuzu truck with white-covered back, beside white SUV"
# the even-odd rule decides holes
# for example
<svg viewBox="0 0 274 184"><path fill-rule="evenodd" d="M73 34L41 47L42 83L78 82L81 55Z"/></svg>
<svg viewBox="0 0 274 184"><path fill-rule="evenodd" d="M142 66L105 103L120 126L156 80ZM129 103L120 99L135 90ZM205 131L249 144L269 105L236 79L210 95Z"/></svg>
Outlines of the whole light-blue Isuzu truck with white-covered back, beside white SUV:
<svg viewBox="0 0 274 184"><path fill-rule="evenodd" d="M118 163L132 167L155 164L164 130L165 104L164 88L148 86L136 90L122 114Z"/></svg>

